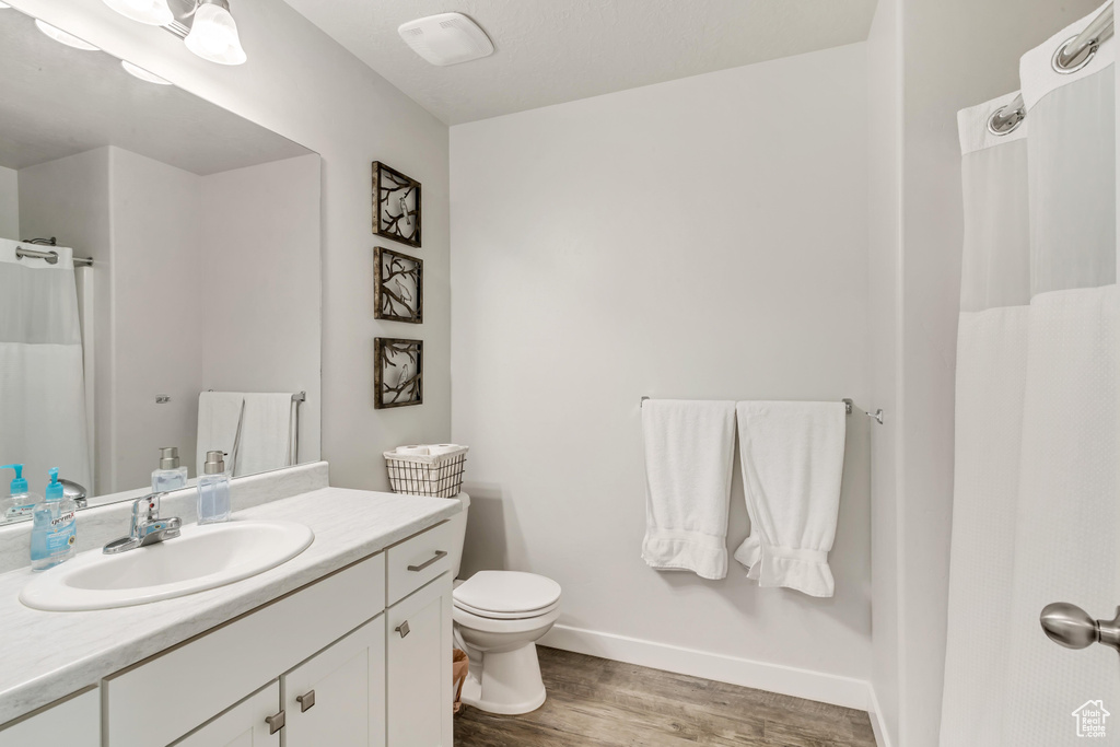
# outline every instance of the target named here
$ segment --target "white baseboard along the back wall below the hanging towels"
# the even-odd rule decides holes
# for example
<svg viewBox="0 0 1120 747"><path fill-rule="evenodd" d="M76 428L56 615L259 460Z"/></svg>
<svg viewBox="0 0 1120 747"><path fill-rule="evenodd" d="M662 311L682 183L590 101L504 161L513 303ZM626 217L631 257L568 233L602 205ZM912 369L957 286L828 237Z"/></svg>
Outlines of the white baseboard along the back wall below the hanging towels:
<svg viewBox="0 0 1120 747"><path fill-rule="evenodd" d="M683 648L653 641L642 641L624 635L598 633L567 625L556 625L541 638L541 645L579 654L613 659L627 664L702 676L706 680L728 682L745 688L777 692L794 698L805 698L833 706L870 711L878 702L865 680L825 674L795 666L768 664L713 654L707 651ZM872 717L872 727L875 718ZM878 732L876 734L878 738ZM879 741L879 747L889 747Z"/></svg>

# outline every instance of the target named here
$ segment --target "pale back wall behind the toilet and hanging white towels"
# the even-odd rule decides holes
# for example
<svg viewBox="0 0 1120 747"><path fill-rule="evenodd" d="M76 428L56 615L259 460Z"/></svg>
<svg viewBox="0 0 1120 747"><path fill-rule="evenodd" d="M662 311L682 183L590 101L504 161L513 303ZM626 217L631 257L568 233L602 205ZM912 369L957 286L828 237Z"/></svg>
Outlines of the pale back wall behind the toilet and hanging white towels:
<svg viewBox="0 0 1120 747"><path fill-rule="evenodd" d="M867 419L822 600L645 566L638 414L643 394L868 404L865 75L856 45L451 129L465 573L557 579L563 626L869 675ZM732 505L734 549L738 474Z"/></svg>

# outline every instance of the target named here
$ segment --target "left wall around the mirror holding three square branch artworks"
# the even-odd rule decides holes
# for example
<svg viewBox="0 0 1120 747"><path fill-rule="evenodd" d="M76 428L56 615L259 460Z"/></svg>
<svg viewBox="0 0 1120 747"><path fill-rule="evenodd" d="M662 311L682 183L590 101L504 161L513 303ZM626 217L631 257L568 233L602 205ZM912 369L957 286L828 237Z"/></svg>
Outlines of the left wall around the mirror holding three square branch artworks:
<svg viewBox="0 0 1120 747"><path fill-rule="evenodd" d="M283 2L240 0L249 62L214 65L167 31L100 2L16 0L84 37L323 156L323 456L346 487L385 488L381 451L450 433L447 127ZM298 54L296 52L298 50ZM423 184L424 324L373 319L370 164ZM386 245L392 245L386 242ZM424 403L373 409L373 338L424 340Z"/></svg>

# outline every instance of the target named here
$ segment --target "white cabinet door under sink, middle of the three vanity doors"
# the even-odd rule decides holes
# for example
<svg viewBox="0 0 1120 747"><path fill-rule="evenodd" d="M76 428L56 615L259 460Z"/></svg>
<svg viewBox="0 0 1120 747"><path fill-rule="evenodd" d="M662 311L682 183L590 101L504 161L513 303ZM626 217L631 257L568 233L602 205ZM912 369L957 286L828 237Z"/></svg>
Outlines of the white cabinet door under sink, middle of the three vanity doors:
<svg viewBox="0 0 1120 747"><path fill-rule="evenodd" d="M385 616L281 678L287 747L384 747Z"/></svg>

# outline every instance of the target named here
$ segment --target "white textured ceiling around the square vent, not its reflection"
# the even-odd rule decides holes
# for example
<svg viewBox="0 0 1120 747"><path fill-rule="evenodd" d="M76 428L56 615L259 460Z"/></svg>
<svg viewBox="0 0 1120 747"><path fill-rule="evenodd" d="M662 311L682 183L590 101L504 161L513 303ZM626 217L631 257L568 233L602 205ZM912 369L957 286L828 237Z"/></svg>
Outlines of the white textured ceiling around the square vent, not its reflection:
<svg viewBox="0 0 1120 747"><path fill-rule="evenodd" d="M449 124L861 41L875 0L287 0ZM492 57L423 62L396 27L458 11Z"/></svg>

